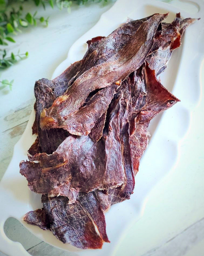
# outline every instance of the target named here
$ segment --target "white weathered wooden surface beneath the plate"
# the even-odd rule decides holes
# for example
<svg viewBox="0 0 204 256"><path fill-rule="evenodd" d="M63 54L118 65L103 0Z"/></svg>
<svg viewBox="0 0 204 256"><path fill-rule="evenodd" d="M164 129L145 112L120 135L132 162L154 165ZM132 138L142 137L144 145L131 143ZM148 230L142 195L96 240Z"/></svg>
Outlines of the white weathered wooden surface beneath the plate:
<svg viewBox="0 0 204 256"><path fill-rule="evenodd" d="M196 7L183 1L174 0L171 4L196 12ZM74 6L70 14L66 10L59 12L49 8L48 15L51 17L48 28L39 26L25 30L16 36L17 43L10 45L13 52L18 49L28 51L29 58L1 75L1 79L14 79L15 83L12 92L0 91L0 178L6 171L13 146L22 135L33 108L34 82L42 77L51 78L56 66L66 58L72 43L112 5L113 2L105 6L98 3ZM35 11L31 4L27 5L27 9ZM39 11L39 16L41 14L47 15L43 9ZM98 33L100 35L100 31ZM204 66L201 73L203 71ZM204 76L202 86L203 80ZM192 113L193 125L181 141L178 165L153 189L142 218L127 227L115 256L204 256L202 110L204 100L201 95L199 105ZM13 218L5 223L5 233L13 241L20 241L34 256L74 255L42 242ZM0 256L3 255L0 252Z"/></svg>

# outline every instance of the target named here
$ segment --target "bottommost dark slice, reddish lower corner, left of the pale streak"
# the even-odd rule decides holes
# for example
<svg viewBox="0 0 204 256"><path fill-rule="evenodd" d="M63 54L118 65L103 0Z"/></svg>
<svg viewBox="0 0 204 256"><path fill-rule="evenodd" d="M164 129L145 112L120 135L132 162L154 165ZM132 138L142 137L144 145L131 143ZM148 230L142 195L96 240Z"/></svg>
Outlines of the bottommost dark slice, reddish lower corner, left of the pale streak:
<svg viewBox="0 0 204 256"><path fill-rule="evenodd" d="M70 243L81 249L100 249L104 241L96 232L95 225L83 206L78 201L74 204L68 204L68 201L67 197L62 196L42 196L52 233L63 243Z"/></svg>

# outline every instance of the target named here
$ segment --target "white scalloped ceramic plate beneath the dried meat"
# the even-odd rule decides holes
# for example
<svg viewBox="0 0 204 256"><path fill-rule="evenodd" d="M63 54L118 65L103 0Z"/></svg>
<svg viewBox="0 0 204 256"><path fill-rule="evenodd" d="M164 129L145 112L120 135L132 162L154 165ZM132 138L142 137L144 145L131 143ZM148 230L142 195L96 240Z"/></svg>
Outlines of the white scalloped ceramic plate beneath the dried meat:
<svg viewBox="0 0 204 256"><path fill-rule="evenodd" d="M198 12L194 15L168 3L155 0L118 0L108 12L101 16L99 22L91 30L72 45L67 59L57 67L52 78L62 73L70 63L83 57L87 49L85 44L87 40L98 35L108 35L125 22L127 17L139 19L158 12L169 12L167 22L172 21L177 12L181 12L183 18L204 17L204 2L194 0L191 3L198 8ZM23 215L28 211L42 207L41 195L32 193L28 189L26 179L19 173L19 163L27 159L27 150L36 138L31 135L31 126L34 121L33 111L21 139L15 145L13 158L0 183L0 205L3 206L0 211L0 251L9 256L30 255L20 243L8 239L3 231L6 219L14 217L38 238L53 246L73 252L75 256L109 256L113 253L127 225L133 218L139 218L142 215L150 190L166 173L173 170L178 160L179 141L188 130L191 110L199 101L203 27L203 20L200 20L187 29L183 44L173 53L167 70L160 77L162 84L180 98L181 102L163 115L156 117L150 124L149 130L152 137L135 179L134 194L130 200L114 205L106 213L107 234L111 243L105 243L101 250L80 250L70 244L63 244L54 237L52 232L42 231L22 220Z"/></svg>

